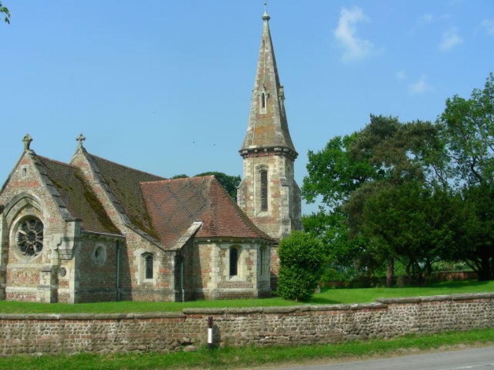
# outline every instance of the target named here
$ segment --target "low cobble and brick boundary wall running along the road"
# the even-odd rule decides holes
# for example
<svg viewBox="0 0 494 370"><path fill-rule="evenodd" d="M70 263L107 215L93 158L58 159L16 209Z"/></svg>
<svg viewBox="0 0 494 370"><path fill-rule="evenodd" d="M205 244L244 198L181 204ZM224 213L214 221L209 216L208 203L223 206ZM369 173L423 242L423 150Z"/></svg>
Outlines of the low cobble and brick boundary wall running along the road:
<svg viewBox="0 0 494 370"><path fill-rule="evenodd" d="M298 345L494 327L494 293L379 299L375 303L180 313L0 314L0 355L194 350L216 345Z"/></svg>

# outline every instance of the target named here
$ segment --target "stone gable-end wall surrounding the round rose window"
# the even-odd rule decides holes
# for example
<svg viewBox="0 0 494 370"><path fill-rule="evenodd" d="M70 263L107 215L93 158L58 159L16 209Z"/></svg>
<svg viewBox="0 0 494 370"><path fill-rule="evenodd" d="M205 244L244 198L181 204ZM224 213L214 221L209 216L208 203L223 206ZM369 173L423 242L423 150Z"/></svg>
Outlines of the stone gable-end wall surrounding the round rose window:
<svg viewBox="0 0 494 370"><path fill-rule="evenodd" d="M36 162L25 152L2 189L0 204L0 284L4 299L53 302L58 299L59 257L56 249L63 240L74 241L74 225L61 217L59 205L39 175ZM48 191L47 191L48 188ZM26 218L36 218L43 225L42 249L35 255L18 247L17 230Z"/></svg>

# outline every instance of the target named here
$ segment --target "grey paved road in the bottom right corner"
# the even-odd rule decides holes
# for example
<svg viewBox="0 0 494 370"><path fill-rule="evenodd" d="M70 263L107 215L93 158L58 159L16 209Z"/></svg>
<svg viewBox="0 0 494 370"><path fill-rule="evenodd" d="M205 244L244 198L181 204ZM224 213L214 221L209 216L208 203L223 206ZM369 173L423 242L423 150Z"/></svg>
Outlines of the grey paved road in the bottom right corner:
<svg viewBox="0 0 494 370"><path fill-rule="evenodd" d="M494 370L494 346L274 370Z"/></svg>

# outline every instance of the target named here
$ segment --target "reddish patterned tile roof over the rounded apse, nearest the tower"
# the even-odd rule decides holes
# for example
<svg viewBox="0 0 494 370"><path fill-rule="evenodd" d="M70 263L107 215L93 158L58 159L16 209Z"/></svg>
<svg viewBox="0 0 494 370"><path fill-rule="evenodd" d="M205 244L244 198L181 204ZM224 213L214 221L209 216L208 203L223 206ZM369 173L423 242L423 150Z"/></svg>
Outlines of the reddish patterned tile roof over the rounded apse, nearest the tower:
<svg viewBox="0 0 494 370"><path fill-rule="evenodd" d="M271 238L228 196L214 176L141 184L154 229L170 248L193 222L203 222L197 237Z"/></svg>

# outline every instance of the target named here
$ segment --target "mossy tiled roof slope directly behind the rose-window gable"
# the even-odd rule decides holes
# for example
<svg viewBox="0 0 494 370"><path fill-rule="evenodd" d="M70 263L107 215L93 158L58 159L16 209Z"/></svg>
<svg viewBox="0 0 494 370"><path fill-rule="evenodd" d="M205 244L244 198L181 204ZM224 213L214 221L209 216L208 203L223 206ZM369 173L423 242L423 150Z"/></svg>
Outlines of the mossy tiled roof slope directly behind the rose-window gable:
<svg viewBox="0 0 494 370"><path fill-rule="evenodd" d="M41 156L37 156L37 159L69 213L82 219L83 230L120 233L78 167Z"/></svg>

